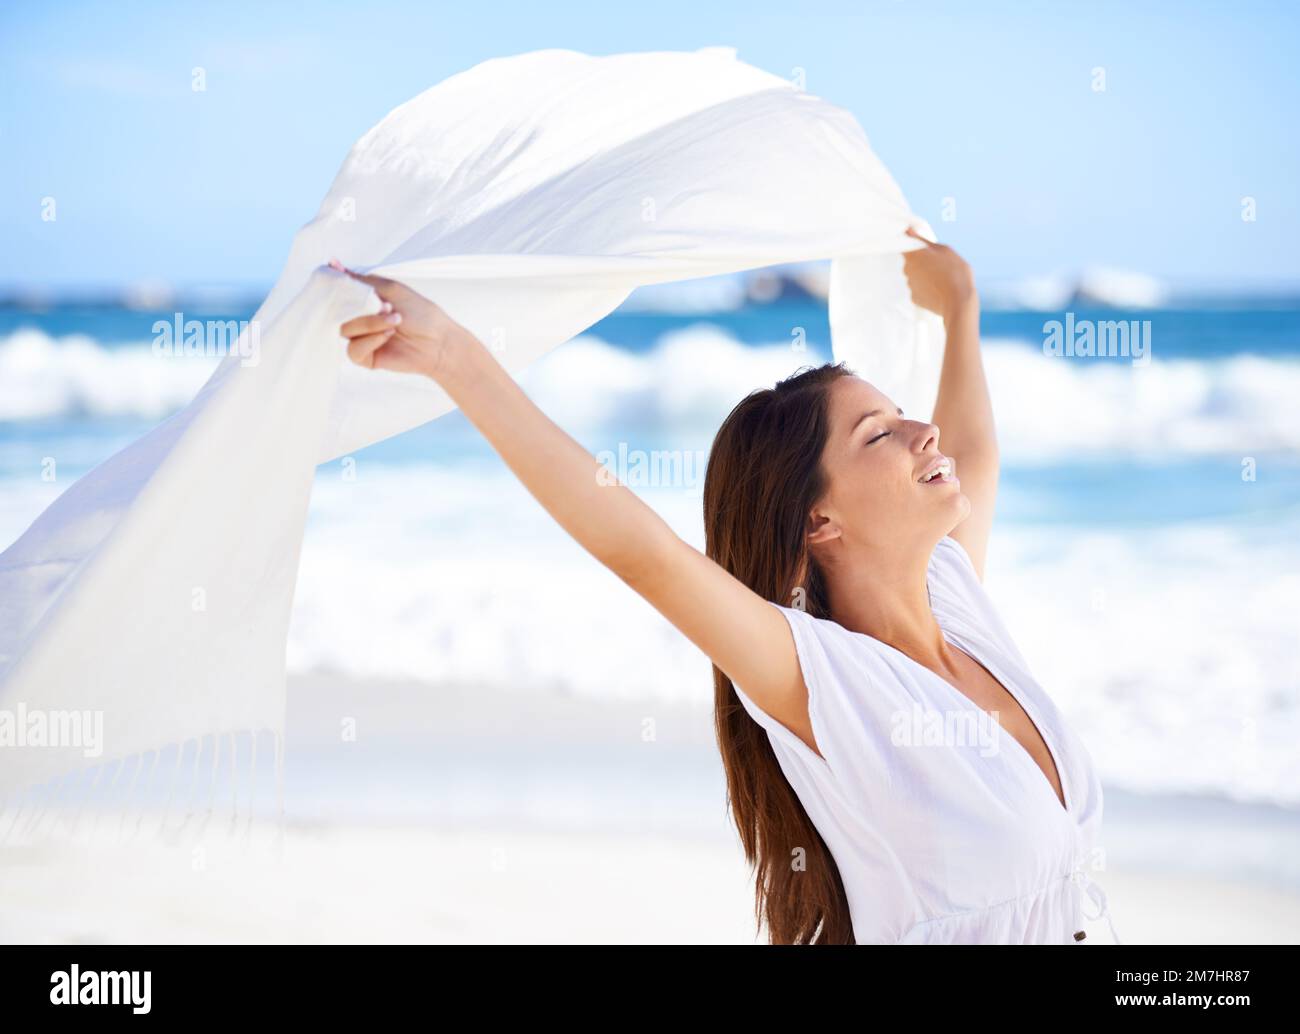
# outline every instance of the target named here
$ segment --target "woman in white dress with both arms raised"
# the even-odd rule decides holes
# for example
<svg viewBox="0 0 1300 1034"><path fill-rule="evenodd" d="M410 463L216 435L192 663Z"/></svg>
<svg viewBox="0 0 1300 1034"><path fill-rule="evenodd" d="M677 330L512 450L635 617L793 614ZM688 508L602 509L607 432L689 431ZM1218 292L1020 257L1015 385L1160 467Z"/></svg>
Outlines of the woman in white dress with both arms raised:
<svg viewBox="0 0 1300 1034"><path fill-rule="evenodd" d="M1082 864L1101 787L980 585L998 454L979 299L945 246L904 268L946 326L933 421L842 365L750 394L710 455L707 555L611 485L434 302L354 273L382 310L341 333L352 362L442 385L566 531L711 658L772 943L1072 942L1084 886L1091 918L1105 912Z"/></svg>

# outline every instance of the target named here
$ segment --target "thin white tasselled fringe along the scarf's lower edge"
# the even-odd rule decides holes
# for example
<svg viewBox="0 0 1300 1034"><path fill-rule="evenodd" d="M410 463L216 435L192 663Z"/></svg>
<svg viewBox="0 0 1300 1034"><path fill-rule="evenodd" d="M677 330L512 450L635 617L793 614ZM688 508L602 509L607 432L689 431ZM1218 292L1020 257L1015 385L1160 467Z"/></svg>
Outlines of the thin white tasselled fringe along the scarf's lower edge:
<svg viewBox="0 0 1300 1034"><path fill-rule="evenodd" d="M269 744L261 744L268 739ZM263 752L272 748L270 787L265 774L257 779L259 744ZM209 752L211 761L204 765ZM229 796L218 796L224 780ZM200 786L203 782L207 786ZM178 799L185 801L183 810ZM263 819L257 830L265 831L264 836L254 836L255 817ZM0 852L52 844L100 848L146 843L198 849L216 840L243 853L266 845L280 861L283 839L285 734L278 730L191 736L81 765L0 795Z"/></svg>

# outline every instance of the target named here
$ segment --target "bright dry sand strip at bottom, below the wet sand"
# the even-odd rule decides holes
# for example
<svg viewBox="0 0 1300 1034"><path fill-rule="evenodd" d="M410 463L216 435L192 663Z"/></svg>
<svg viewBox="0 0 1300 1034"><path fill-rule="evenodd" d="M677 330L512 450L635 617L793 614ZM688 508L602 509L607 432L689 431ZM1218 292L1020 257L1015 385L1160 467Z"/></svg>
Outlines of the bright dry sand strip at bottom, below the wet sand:
<svg viewBox="0 0 1300 1034"><path fill-rule="evenodd" d="M295 826L283 865L217 848L30 851L6 862L5 943L753 944L724 838ZM1106 874L1126 944L1295 943L1300 896L1238 881ZM1089 923L1104 944L1105 923Z"/></svg>

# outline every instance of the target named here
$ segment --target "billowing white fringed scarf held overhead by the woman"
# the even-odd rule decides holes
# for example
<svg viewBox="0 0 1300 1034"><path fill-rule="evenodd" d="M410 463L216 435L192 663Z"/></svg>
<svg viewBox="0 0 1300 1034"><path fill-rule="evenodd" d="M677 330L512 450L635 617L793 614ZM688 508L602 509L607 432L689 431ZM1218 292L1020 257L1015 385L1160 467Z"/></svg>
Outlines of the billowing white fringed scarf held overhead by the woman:
<svg viewBox="0 0 1300 1034"><path fill-rule="evenodd" d="M512 372L638 286L831 259L836 358L922 414L941 325L907 293L910 225L848 112L728 48L523 53L395 108L296 234L252 319L257 360L233 350L0 555L0 710L103 717L95 758L0 745L0 792L237 732L281 757L313 468L452 408L426 378L346 360L339 323L380 302L332 258L426 294Z"/></svg>

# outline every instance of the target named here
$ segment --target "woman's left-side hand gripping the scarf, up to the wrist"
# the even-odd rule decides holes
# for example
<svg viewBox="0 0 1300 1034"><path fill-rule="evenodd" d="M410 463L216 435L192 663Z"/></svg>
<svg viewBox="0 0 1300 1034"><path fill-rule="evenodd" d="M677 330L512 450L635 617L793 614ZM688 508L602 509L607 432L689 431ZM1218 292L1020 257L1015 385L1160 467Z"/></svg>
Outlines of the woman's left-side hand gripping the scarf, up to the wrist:
<svg viewBox="0 0 1300 1034"><path fill-rule="evenodd" d="M472 334L434 302L386 277L335 269L374 289L384 303L373 316L358 316L339 326L347 358L367 369L422 373L438 380L448 359L468 346Z"/></svg>

